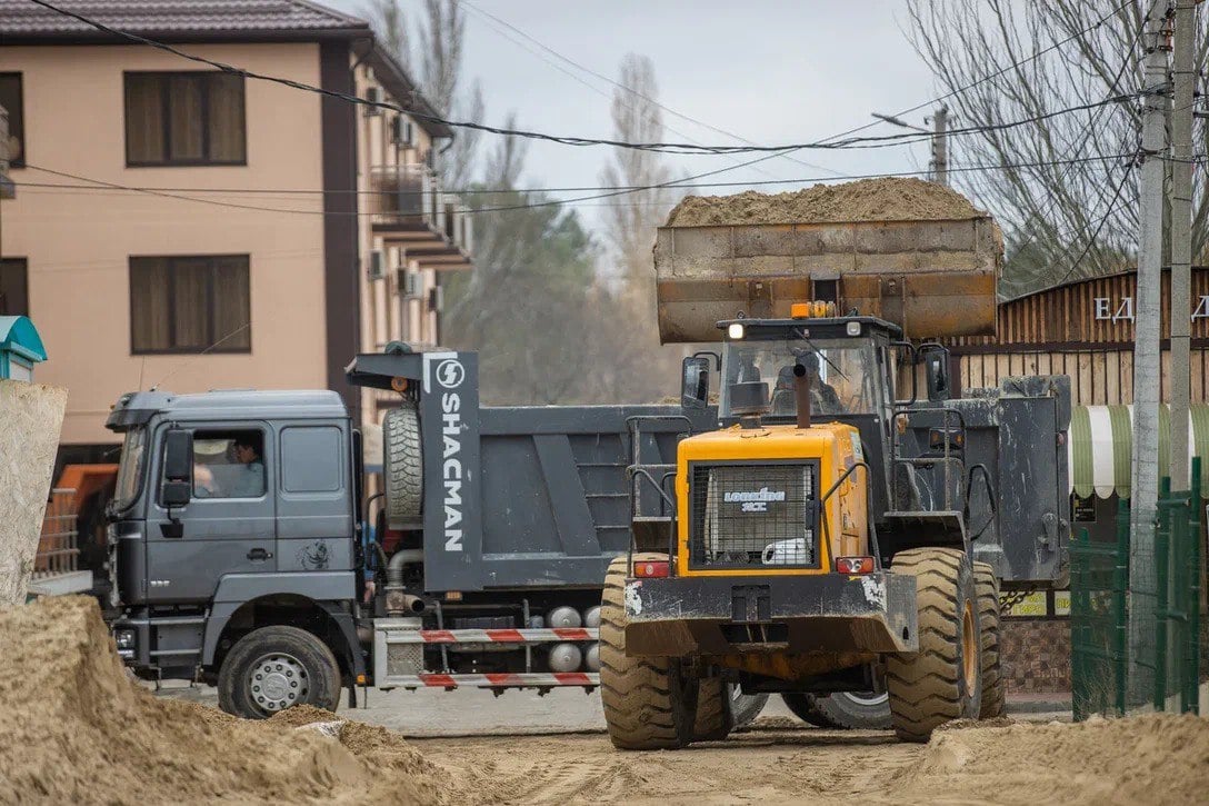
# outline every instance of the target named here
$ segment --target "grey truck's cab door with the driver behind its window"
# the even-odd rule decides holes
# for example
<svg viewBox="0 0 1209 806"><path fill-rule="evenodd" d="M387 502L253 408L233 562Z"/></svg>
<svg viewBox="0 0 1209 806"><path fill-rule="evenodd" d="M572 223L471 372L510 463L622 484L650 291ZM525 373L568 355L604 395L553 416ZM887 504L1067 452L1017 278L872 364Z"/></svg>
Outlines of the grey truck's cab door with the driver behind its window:
<svg viewBox="0 0 1209 806"><path fill-rule="evenodd" d="M162 497L147 518L147 601L206 601L227 574L277 570L272 431L262 425L192 431L193 490L169 512ZM162 488L163 455L155 478ZM177 523L174 523L175 520Z"/></svg>

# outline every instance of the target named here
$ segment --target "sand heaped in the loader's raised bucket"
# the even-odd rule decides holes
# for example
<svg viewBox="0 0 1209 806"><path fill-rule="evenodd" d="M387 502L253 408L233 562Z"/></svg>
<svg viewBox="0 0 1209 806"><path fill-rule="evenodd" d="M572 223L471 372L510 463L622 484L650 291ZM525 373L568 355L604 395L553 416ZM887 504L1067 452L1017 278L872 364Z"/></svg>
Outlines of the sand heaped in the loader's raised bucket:
<svg viewBox="0 0 1209 806"><path fill-rule="evenodd" d="M774 195L748 190L734 196L688 196L669 214L667 225L960 220L983 215L987 213L968 198L943 185L883 177Z"/></svg>

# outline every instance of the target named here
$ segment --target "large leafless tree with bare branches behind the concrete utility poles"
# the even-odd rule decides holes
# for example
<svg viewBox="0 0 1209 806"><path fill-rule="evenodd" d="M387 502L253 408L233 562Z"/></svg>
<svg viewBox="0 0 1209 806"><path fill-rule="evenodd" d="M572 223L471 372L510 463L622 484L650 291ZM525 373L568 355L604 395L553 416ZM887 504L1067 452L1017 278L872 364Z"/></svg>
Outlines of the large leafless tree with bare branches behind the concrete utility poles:
<svg viewBox="0 0 1209 806"><path fill-rule="evenodd" d="M1003 225L1003 297L1133 266L1138 206L1130 166L1141 126L1144 5L908 0L912 41L941 86L955 93L948 103L959 126L1036 119L956 137L950 148L959 162L988 167L958 182ZM1199 64L1207 48L1209 40L1201 42ZM1110 99L1117 100L1054 115ZM1203 121L1197 142L1209 143ZM1204 255L1209 186L1198 173L1193 254Z"/></svg>

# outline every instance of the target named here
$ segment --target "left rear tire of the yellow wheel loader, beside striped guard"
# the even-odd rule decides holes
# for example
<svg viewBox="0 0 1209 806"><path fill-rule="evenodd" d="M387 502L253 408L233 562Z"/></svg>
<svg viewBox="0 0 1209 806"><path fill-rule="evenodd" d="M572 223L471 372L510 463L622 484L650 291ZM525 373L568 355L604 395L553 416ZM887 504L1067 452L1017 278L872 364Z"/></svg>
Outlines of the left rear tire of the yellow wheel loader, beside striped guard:
<svg viewBox="0 0 1209 806"><path fill-rule="evenodd" d="M635 554L634 559L667 555ZM608 736L621 750L677 749L694 738L698 684L681 673L676 658L625 654L626 575L626 558L618 557L608 566L601 597L601 703Z"/></svg>

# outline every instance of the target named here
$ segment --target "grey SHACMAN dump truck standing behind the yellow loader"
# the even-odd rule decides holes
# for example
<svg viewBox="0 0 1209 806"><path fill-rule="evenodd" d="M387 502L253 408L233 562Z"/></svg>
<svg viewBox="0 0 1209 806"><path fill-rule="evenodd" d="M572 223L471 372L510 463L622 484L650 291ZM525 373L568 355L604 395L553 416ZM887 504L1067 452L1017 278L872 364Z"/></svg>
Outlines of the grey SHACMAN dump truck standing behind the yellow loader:
<svg viewBox="0 0 1209 806"><path fill-rule="evenodd" d="M254 719L368 687L594 690L625 468L670 461L712 414L482 407L478 367L401 344L357 356L349 380L391 405L369 457L332 391L121 396L106 543L125 662ZM652 424L637 443L634 418ZM748 718L767 698L730 691Z"/></svg>

